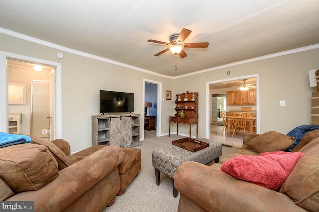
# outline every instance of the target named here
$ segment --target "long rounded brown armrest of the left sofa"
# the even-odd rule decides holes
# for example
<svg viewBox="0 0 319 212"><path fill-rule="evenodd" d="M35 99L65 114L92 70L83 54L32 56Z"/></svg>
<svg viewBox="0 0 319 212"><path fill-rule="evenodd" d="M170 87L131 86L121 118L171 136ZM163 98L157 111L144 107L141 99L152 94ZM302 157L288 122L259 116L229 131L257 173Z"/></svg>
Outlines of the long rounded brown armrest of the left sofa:
<svg viewBox="0 0 319 212"><path fill-rule="evenodd" d="M18 193L6 201L35 201L35 211L62 211L123 161L121 147L111 146L59 171L59 176L36 191ZM117 175L119 178L119 175ZM118 188L120 190L120 188Z"/></svg>

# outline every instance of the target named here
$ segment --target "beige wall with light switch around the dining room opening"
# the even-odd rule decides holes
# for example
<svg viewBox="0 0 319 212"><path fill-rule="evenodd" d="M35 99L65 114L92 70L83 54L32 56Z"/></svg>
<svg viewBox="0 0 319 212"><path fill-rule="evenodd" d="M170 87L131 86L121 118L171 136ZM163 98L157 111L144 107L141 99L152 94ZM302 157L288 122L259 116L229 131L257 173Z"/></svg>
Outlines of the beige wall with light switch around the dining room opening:
<svg viewBox="0 0 319 212"><path fill-rule="evenodd" d="M199 135L205 136L206 82L259 74L260 133L287 134L298 125L311 123L311 92L316 89L309 85L308 71L319 68L318 57L319 49L304 51L176 79L174 85L199 92ZM188 81L192 83L185 84ZM280 106L280 100L286 100L286 106Z"/></svg>

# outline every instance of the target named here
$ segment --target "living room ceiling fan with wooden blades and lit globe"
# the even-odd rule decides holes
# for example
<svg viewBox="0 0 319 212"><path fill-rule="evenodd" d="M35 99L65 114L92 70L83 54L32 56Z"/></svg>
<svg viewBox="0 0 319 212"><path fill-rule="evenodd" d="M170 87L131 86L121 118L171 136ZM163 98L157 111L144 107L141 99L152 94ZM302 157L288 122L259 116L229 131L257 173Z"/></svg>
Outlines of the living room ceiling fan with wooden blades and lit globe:
<svg viewBox="0 0 319 212"><path fill-rule="evenodd" d="M148 42L152 43L159 43L167 45L168 48L155 54L154 56L159 56L168 50L170 50L173 54L178 55L181 58L184 58L187 56L186 52L184 51L184 48L207 48L208 43L183 43L184 40L190 35L191 31L189 29L182 29L180 33L175 33L169 36L170 43L157 41L157 40L148 40Z"/></svg>

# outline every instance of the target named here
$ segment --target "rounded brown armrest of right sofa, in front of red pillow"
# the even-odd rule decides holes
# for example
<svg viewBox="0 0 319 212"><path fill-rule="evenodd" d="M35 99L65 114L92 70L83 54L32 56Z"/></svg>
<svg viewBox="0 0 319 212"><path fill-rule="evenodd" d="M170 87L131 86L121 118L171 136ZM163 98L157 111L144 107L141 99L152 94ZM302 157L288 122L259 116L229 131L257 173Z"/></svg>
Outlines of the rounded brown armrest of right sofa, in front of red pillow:
<svg viewBox="0 0 319 212"><path fill-rule="evenodd" d="M183 162L174 182L182 195L207 211L305 211L282 193L197 162Z"/></svg>

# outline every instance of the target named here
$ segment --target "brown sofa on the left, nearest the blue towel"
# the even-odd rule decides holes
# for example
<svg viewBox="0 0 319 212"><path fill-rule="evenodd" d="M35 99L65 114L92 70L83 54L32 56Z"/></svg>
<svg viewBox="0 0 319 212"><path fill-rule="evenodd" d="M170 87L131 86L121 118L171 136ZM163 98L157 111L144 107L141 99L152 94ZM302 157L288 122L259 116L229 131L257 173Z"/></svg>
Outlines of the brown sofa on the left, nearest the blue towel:
<svg viewBox="0 0 319 212"><path fill-rule="evenodd" d="M36 212L102 211L141 169L140 149L97 145L70 155L62 139L30 137L0 148L0 200L34 201Z"/></svg>

